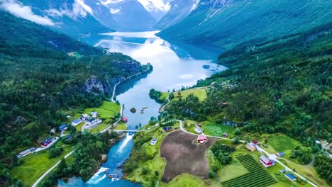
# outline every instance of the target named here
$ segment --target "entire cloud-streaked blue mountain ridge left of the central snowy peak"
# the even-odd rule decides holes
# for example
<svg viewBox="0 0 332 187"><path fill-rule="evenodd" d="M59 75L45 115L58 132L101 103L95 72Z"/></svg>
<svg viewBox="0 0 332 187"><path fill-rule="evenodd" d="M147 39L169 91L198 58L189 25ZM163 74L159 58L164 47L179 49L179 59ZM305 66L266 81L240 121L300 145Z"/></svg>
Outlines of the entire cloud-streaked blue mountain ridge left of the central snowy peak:
<svg viewBox="0 0 332 187"><path fill-rule="evenodd" d="M138 0L0 0L0 8L74 38L114 30L152 30L156 23Z"/></svg>

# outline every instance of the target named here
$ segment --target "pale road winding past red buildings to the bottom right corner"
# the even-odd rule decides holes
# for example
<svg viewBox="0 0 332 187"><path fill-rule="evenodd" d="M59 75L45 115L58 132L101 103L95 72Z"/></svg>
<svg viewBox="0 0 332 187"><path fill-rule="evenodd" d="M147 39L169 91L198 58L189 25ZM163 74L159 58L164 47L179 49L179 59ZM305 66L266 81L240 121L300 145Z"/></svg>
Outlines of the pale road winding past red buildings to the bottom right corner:
<svg viewBox="0 0 332 187"><path fill-rule="evenodd" d="M198 134L195 134L195 133L192 133L192 132L188 132L187 130L185 130L184 128L182 128L182 120L177 120L179 123L180 123L180 129L183 131L183 132L186 132L188 134L191 134L191 135L198 135ZM206 137L215 137L215 138L218 138L218 139L223 139L223 140L231 140L231 141L234 141L234 139L231 139L231 138L226 138L226 137L216 137L216 136L209 136L209 135L206 135ZM245 142L244 140L239 140L240 142ZM293 174L295 174L296 176L298 176L299 178L301 178L302 180L308 182L309 184L311 184L311 186L314 186L314 187L318 187L316 186L316 184L312 183L311 181L309 181L308 179L304 178L303 176L301 176L300 174L297 174L297 172L294 172L292 169L290 169L288 166L282 164L282 162L280 162L278 159L277 159L277 156L275 154L270 154L268 152L266 152L264 149L262 149L261 147L259 147L258 145L256 145L257 147L257 150L259 152L264 152L267 157L269 157L269 159L272 159L272 160L275 160L275 162L277 162L278 164L282 165L287 171L290 171L292 172Z"/></svg>

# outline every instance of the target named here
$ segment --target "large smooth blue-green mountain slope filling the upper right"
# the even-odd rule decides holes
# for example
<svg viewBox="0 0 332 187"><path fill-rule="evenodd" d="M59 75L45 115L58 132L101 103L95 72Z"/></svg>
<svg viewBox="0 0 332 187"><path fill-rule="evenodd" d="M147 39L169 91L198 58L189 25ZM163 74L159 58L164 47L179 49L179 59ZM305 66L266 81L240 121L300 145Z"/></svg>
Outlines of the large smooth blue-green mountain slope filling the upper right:
<svg viewBox="0 0 332 187"><path fill-rule="evenodd" d="M201 0L186 18L159 35L167 40L231 48L241 42L264 42L331 22L331 9L332 4L325 0ZM160 23L157 26L165 28Z"/></svg>

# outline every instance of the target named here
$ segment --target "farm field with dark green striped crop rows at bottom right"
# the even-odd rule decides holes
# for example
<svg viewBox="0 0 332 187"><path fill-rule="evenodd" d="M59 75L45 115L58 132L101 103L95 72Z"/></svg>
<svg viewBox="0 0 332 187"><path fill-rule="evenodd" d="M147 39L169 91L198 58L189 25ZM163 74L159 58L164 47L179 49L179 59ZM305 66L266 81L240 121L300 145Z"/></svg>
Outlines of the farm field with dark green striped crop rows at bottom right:
<svg viewBox="0 0 332 187"><path fill-rule="evenodd" d="M249 171L249 174L245 174L235 179L225 181L221 183L223 186L263 187L269 186L273 183L277 183L277 181L268 173L268 171L262 168L262 166L249 154L239 155L238 157L236 157L236 159L238 159L240 164L242 164L245 169Z"/></svg>

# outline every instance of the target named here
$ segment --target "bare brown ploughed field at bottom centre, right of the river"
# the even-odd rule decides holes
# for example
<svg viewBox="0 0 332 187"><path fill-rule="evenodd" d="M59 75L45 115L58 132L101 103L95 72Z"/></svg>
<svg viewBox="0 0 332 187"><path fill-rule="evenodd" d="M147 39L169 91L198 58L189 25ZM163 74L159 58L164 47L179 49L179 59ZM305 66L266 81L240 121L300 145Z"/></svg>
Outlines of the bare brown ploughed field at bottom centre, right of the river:
<svg viewBox="0 0 332 187"><path fill-rule="evenodd" d="M167 160L162 175L163 182L170 182L176 176L184 173L207 177L209 160L206 158L205 152L216 140L209 139L204 145L197 145L194 142L195 139L195 135L189 135L179 130L165 137L160 146L160 156Z"/></svg>

